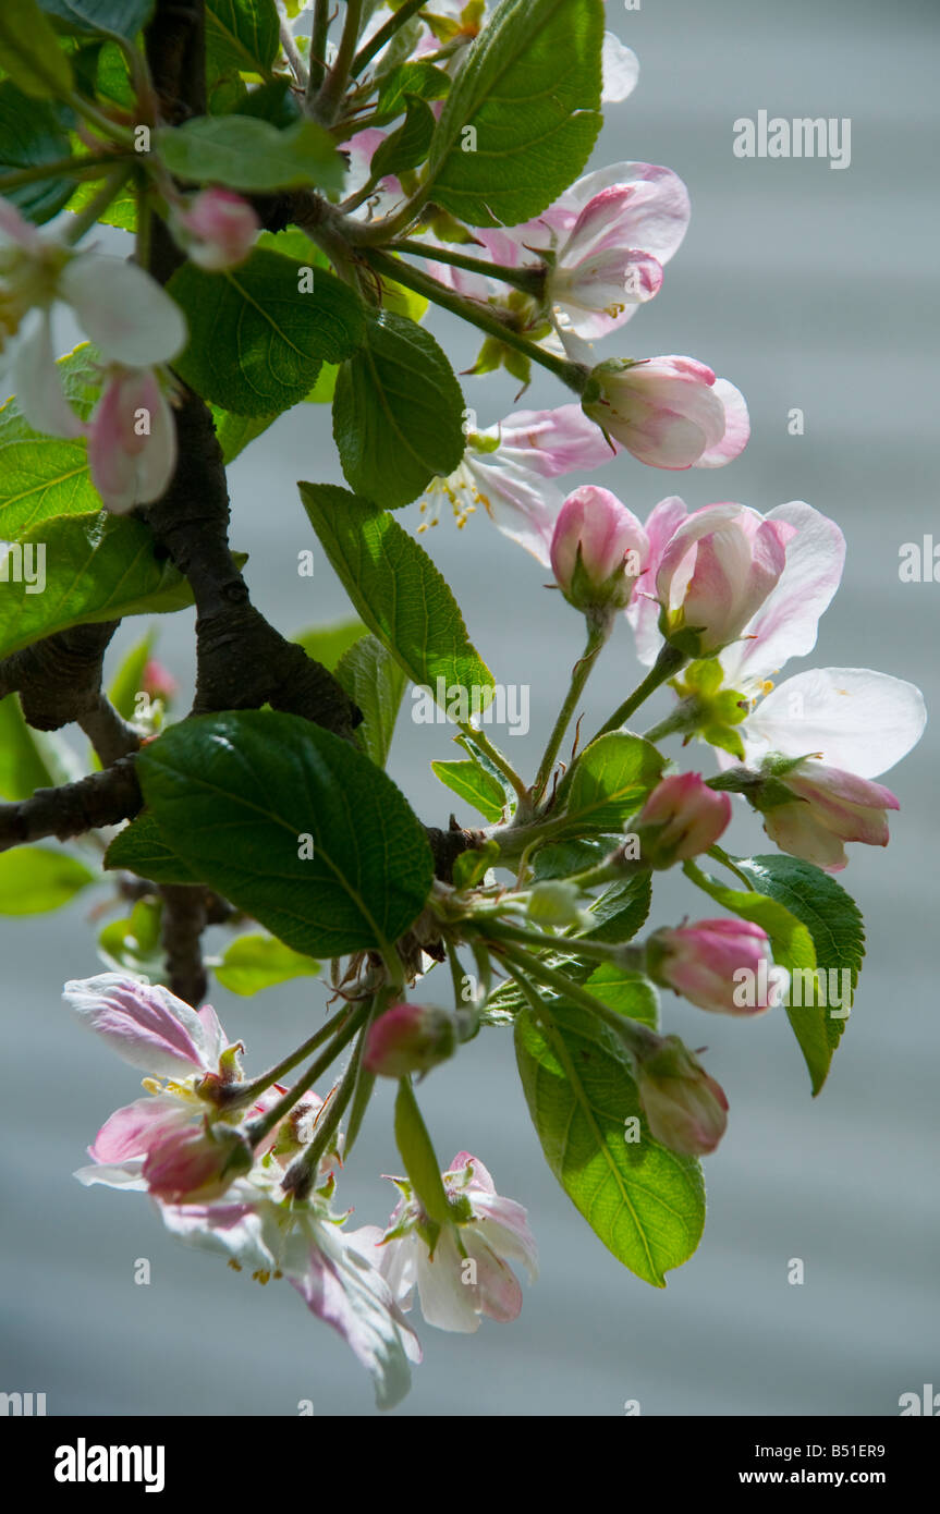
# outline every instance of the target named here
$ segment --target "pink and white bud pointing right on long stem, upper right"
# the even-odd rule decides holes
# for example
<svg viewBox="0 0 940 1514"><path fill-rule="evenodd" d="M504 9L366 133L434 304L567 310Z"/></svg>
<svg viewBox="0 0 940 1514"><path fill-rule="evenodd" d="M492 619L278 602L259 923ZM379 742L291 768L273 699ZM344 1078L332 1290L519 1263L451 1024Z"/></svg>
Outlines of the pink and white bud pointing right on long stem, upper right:
<svg viewBox="0 0 940 1514"><path fill-rule="evenodd" d="M651 468L719 468L751 435L743 397L693 357L609 359L593 368L583 407Z"/></svg>

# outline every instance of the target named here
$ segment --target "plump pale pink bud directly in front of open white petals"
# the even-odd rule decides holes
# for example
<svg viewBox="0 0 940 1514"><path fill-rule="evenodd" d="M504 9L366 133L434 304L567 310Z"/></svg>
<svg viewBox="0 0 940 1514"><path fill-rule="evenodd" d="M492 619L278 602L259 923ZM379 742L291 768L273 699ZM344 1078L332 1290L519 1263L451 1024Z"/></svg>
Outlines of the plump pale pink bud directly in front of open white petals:
<svg viewBox="0 0 940 1514"><path fill-rule="evenodd" d="M796 527L743 504L707 504L669 537L655 574L660 631L689 657L736 640L777 587Z"/></svg>

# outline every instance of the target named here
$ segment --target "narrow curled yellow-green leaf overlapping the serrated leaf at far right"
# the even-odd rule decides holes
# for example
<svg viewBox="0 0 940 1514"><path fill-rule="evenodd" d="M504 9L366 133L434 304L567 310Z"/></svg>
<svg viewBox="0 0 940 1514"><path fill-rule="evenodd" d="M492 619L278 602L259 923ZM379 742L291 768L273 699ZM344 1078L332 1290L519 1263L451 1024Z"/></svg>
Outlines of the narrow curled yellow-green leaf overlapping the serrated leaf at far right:
<svg viewBox="0 0 940 1514"><path fill-rule="evenodd" d="M808 981L805 975L816 969L816 946L807 927L786 904L770 898L769 893L727 889L704 874L693 861L683 863L683 872L733 914L760 925L770 937L773 961ZM810 987L808 999L810 1002L804 1002L801 1007L789 1007L787 1019L810 1069L810 1083L816 1095L822 1089L833 1061L833 1042L826 1023L830 1010L819 1002L813 987Z"/></svg>

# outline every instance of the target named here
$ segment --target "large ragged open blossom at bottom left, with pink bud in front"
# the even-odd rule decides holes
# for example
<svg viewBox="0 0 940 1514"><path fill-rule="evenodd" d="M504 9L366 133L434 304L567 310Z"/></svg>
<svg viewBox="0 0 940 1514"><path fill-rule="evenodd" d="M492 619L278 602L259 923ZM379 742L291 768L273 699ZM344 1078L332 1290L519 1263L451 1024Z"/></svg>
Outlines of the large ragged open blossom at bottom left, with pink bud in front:
<svg viewBox="0 0 940 1514"><path fill-rule="evenodd" d="M200 1098L204 1076L238 1076L236 1048L212 1008L192 1010L168 989L120 974L67 983L64 998L126 1061L170 1079L147 1079L150 1098L104 1122L79 1181L147 1190L177 1238L221 1251L259 1281L288 1278L372 1373L380 1407L398 1402L421 1349L388 1284L328 1210L333 1152L319 1163L322 1188L285 1207L285 1169L313 1139L324 1102L306 1093L253 1152L247 1128L230 1123L236 1116L210 1125L212 1105ZM272 1084L247 1113L266 1113L283 1092Z"/></svg>

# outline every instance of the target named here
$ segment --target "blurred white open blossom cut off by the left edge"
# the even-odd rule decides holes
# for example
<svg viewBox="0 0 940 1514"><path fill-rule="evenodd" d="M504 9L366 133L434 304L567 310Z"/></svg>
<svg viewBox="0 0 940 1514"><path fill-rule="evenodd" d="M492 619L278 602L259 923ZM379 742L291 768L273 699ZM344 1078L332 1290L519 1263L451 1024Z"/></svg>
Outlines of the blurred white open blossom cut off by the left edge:
<svg viewBox="0 0 940 1514"><path fill-rule="evenodd" d="M79 436L53 342L67 304L106 363L151 368L186 341L180 307L142 268L104 253L74 251L44 236L0 200L0 385L9 383L27 422L47 436Z"/></svg>

